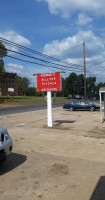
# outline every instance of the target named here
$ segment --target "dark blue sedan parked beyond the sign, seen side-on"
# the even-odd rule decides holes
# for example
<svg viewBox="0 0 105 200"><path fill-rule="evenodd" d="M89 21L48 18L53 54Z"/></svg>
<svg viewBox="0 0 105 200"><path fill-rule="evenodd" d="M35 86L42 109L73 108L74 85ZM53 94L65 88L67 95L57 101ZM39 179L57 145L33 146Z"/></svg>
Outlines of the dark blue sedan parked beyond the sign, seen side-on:
<svg viewBox="0 0 105 200"><path fill-rule="evenodd" d="M95 111L96 109L100 109L100 105L91 103L89 101L72 101L70 103L64 104L63 108L69 109L70 111L74 110Z"/></svg>

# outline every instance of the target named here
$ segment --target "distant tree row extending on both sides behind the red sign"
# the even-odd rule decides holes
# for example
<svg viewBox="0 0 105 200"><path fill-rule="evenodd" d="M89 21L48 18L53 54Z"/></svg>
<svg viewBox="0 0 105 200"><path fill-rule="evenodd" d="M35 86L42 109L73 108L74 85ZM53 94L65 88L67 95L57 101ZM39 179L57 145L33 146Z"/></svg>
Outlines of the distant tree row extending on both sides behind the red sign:
<svg viewBox="0 0 105 200"><path fill-rule="evenodd" d="M18 77L18 89L22 91L22 95L26 96L42 96L41 92L37 92L37 88L30 87L30 81L25 77ZM100 82L96 85L96 77L86 78L86 93L88 99L99 99L99 89L105 87L105 83ZM46 93L46 92L44 92ZM53 94L54 92L52 92ZM65 79L62 78L62 91L57 92L56 96L84 98L84 75L71 73Z"/></svg>

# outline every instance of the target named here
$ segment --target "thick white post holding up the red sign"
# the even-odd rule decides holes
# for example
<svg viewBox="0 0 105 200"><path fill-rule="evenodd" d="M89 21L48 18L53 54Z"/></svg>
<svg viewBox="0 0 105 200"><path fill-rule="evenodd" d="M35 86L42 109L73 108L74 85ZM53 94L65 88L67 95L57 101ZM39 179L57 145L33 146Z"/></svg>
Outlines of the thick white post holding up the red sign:
<svg viewBox="0 0 105 200"><path fill-rule="evenodd" d="M51 101L51 91L47 91L47 125L52 127L52 101Z"/></svg>

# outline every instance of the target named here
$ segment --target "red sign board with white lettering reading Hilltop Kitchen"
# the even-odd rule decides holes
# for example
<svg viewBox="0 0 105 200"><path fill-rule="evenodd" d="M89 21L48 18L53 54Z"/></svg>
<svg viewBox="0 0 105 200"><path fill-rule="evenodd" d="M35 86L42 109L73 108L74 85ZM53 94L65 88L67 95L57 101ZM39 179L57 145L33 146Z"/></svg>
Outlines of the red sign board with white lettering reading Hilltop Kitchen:
<svg viewBox="0 0 105 200"><path fill-rule="evenodd" d="M48 73L48 74L37 74L37 91L61 91L61 74Z"/></svg>

